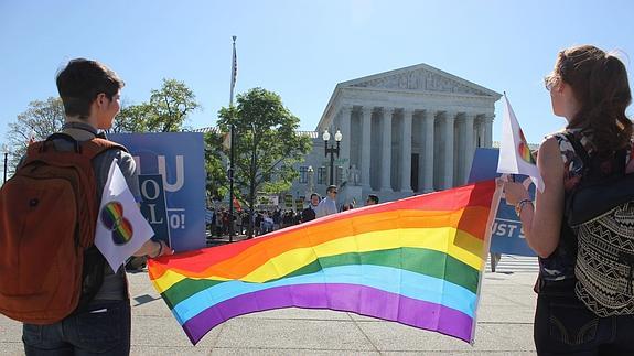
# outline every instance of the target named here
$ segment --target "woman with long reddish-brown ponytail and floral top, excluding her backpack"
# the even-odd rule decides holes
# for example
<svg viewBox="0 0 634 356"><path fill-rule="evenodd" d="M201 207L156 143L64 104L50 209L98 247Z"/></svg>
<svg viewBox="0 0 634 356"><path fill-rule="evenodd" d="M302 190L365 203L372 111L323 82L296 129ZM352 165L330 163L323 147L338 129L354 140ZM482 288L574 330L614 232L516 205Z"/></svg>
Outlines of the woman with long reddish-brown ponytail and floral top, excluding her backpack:
<svg viewBox="0 0 634 356"><path fill-rule="evenodd" d="M614 55L582 45L559 52L545 84L554 114L568 121L539 148L537 165L546 187L534 203L520 183L504 186L506 202L515 205L526 240L539 256L535 345L539 355L634 355L634 316L598 316L576 296L577 239L563 218L566 197L587 172L572 141L606 174L627 163L630 154L615 160L617 152L632 151L627 73Z"/></svg>

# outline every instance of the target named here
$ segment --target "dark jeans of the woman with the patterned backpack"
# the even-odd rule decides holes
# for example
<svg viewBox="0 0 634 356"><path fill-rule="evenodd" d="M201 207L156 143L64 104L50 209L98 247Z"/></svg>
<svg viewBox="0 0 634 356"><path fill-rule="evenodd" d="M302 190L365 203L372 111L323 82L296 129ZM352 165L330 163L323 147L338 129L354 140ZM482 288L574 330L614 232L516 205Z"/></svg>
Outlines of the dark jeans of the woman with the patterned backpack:
<svg viewBox="0 0 634 356"><path fill-rule="evenodd" d="M574 282L541 282L534 325L537 354L634 355L634 315L597 316L574 295Z"/></svg>

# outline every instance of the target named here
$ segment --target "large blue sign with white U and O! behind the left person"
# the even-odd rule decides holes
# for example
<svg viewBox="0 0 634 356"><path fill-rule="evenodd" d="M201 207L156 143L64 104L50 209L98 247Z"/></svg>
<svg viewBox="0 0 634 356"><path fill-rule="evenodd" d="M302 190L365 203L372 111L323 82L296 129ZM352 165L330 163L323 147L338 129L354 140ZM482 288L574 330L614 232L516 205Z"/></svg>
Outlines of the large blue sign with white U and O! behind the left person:
<svg viewBox="0 0 634 356"><path fill-rule="evenodd" d="M205 247L203 133L117 133L108 138L128 148L139 175L161 175L170 246L179 252Z"/></svg>

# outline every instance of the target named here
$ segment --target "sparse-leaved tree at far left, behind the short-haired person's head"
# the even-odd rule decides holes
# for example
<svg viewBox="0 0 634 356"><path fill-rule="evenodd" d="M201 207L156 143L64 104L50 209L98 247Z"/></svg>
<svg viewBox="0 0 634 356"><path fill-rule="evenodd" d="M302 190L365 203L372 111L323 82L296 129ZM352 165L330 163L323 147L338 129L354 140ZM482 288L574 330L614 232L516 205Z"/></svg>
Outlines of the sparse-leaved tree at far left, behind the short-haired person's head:
<svg viewBox="0 0 634 356"><path fill-rule="evenodd" d="M43 140L62 130L64 118L64 105L60 98L50 97L29 103L29 108L18 115L15 121L9 122L7 139L11 151L11 170L26 152L31 134L35 140Z"/></svg>

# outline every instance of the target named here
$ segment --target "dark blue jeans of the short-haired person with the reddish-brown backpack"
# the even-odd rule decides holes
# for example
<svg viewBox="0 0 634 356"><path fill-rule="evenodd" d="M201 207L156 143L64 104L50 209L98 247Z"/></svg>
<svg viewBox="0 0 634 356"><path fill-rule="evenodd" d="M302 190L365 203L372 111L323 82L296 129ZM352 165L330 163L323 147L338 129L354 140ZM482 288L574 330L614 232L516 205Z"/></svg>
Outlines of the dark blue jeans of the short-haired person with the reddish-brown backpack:
<svg viewBox="0 0 634 356"><path fill-rule="evenodd" d="M129 355L130 301L94 301L51 325L24 324L26 355Z"/></svg>

